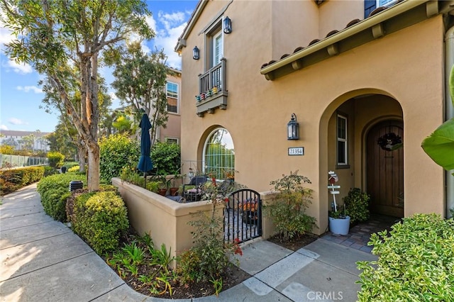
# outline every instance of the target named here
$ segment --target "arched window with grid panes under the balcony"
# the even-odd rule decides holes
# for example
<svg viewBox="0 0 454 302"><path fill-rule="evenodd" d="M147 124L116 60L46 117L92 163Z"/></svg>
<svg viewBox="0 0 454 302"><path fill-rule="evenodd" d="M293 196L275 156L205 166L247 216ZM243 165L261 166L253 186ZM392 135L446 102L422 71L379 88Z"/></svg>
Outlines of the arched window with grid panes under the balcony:
<svg viewBox="0 0 454 302"><path fill-rule="evenodd" d="M233 140L224 128L217 128L208 135L204 146L204 173L216 179L233 177L235 149Z"/></svg>

